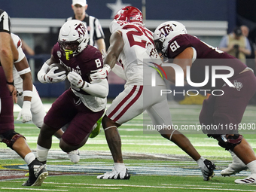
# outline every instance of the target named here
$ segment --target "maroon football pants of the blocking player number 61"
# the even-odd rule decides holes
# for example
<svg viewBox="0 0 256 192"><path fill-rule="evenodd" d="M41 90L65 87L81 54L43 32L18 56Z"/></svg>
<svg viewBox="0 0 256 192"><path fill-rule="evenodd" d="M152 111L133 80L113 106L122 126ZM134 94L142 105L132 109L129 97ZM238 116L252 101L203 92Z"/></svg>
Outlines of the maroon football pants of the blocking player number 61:
<svg viewBox="0 0 256 192"><path fill-rule="evenodd" d="M238 133L245 108L256 91L256 78L254 73L249 71L236 75L230 79L230 82L237 87L229 87L226 84L221 87L224 95L210 95L204 100L199 117L201 125L205 125L202 126L203 133L221 135ZM207 125L209 129L204 130Z"/></svg>

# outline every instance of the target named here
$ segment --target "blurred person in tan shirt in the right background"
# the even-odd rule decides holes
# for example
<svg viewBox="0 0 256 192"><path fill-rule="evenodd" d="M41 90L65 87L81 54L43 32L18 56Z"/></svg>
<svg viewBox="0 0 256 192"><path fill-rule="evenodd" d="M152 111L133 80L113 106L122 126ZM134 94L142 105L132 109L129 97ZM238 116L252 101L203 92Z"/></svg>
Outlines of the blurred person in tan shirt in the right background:
<svg viewBox="0 0 256 192"><path fill-rule="evenodd" d="M245 64L245 57L251 55L251 47L248 38L246 38L245 35L242 35L242 30L239 26L236 27L233 32L225 35L221 39L219 48L220 50L235 56L237 59L240 59Z"/></svg>

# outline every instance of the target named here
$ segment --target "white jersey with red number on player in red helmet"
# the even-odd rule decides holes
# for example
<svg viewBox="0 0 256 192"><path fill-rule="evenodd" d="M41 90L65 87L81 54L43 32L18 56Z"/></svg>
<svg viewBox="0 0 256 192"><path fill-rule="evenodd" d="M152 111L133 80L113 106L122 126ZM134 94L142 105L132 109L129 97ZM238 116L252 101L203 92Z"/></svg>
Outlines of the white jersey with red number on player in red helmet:
<svg viewBox="0 0 256 192"><path fill-rule="evenodd" d="M117 61L123 66L126 76L126 86L145 85L143 78L151 72L151 59L160 59L154 47L153 33L139 24L113 21L110 26L111 32L119 31L123 37L123 50ZM148 72L146 72L146 70ZM163 81L159 82L161 85Z"/></svg>

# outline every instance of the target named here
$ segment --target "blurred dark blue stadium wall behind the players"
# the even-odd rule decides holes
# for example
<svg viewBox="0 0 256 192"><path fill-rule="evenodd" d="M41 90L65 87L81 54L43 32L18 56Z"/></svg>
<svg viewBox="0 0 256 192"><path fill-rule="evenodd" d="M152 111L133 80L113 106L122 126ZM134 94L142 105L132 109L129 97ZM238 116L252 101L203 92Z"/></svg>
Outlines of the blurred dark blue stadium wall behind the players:
<svg viewBox="0 0 256 192"><path fill-rule="evenodd" d="M231 32L236 25L248 26L251 37L256 37L254 0L87 0L87 4L87 14L98 18L102 24L107 48L109 23L114 14L126 5L141 9L145 26L152 31L166 20L178 20L187 27L187 32L215 47L218 47L221 37ZM35 50L35 55L28 56L28 59L38 93L42 98L59 96L65 90L64 82L41 84L36 74L44 61L50 57L50 50L57 41L59 28L66 18L73 15L72 0L0 0L0 5L11 17L12 32L20 35L20 38ZM123 90L124 82L114 74L111 74L108 80L108 98L113 99Z"/></svg>

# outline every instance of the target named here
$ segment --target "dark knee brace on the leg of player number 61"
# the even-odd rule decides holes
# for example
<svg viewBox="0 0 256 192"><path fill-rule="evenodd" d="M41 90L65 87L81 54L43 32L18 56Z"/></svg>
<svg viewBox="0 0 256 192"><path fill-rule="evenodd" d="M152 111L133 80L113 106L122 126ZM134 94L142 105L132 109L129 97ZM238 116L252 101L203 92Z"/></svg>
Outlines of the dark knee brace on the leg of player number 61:
<svg viewBox="0 0 256 192"><path fill-rule="evenodd" d="M233 148L235 148L236 145L239 145L243 138L243 136L239 134L234 134L233 136L228 136L227 138L223 136L224 135L209 135L209 137L217 139L218 145L220 145L221 148L224 148L227 151L233 151Z"/></svg>

